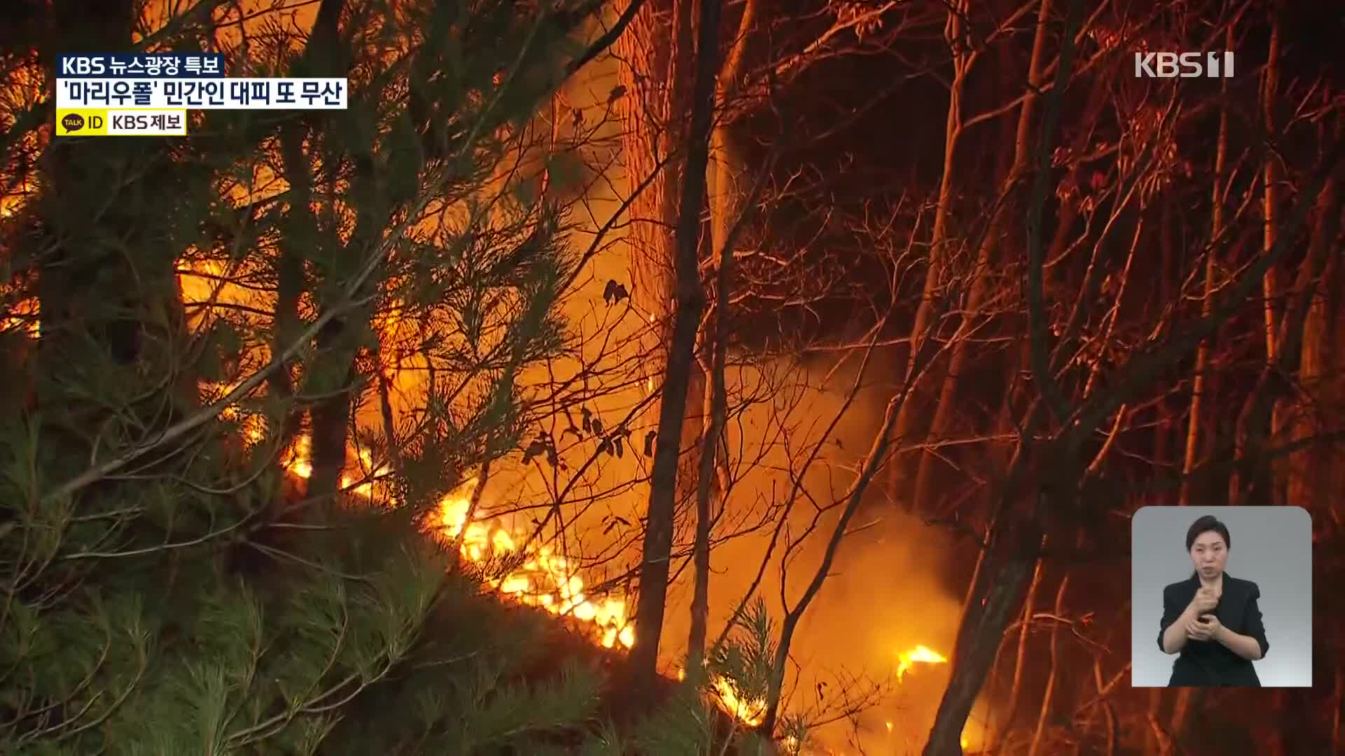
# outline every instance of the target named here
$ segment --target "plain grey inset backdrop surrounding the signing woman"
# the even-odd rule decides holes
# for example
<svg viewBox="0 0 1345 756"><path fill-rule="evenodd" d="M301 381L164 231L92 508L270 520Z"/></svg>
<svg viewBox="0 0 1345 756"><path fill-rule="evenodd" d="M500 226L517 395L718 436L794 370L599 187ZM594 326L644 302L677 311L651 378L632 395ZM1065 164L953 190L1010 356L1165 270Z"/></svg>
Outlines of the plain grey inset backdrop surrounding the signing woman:
<svg viewBox="0 0 1345 756"><path fill-rule="evenodd" d="M1228 574L1260 588L1270 651L1252 662L1264 687L1313 685L1313 522L1302 507L1142 507L1131 519L1131 685L1166 687L1176 655L1158 648L1163 587L1190 577L1186 529L1228 526Z"/></svg>

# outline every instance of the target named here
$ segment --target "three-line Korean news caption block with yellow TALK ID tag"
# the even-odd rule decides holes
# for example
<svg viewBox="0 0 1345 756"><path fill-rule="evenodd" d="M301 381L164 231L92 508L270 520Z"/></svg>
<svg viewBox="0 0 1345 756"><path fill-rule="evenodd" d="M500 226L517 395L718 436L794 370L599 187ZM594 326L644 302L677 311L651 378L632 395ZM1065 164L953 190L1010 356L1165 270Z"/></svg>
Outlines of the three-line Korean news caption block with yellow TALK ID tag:
<svg viewBox="0 0 1345 756"><path fill-rule="evenodd" d="M192 110L344 110L344 78L227 77L219 52L58 58L56 136L187 136Z"/></svg>

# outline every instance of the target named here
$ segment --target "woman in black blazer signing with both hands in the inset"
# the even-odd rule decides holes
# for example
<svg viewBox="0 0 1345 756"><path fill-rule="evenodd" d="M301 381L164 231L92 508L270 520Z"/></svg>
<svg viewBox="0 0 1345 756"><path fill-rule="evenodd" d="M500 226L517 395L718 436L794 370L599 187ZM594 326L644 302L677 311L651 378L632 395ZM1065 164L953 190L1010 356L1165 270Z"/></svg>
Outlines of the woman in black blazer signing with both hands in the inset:
<svg viewBox="0 0 1345 756"><path fill-rule="evenodd" d="M1250 580L1224 572L1232 539L1228 527L1205 515L1186 531L1186 552L1196 572L1163 588L1158 647L1181 654L1169 686L1260 687L1252 662L1266 656L1270 642Z"/></svg>

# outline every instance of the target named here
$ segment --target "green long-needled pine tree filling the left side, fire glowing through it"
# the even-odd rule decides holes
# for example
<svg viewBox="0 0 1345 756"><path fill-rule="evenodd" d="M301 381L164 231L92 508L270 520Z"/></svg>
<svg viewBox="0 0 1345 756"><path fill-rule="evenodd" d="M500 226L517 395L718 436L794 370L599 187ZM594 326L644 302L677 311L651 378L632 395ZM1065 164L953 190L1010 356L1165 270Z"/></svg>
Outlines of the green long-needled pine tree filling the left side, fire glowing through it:
<svg viewBox="0 0 1345 756"><path fill-rule="evenodd" d="M153 28L56 5L11 89L56 52L215 39L231 75L351 91L187 139L47 140L36 86L11 108L38 188L3 235L0 752L620 748L554 626L480 596L500 565L425 535L519 445L516 378L565 340L565 210L510 165L597 5L324 0L297 43L221 3ZM393 359L426 375L414 422L352 433Z"/></svg>

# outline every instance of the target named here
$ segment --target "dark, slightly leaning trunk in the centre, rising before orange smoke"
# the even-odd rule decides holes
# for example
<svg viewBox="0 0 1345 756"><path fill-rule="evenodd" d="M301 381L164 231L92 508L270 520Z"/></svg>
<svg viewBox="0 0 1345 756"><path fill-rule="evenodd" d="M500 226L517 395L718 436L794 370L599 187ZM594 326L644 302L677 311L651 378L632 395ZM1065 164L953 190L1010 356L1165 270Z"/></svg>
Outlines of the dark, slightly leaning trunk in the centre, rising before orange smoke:
<svg viewBox="0 0 1345 756"><path fill-rule="evenodd" d="M636 695L646 701L650 700L658 677L659 639L663 630L677 514L682 428L686 418L687 389L695 363L695 331L705 309L699 272L701 209L705 203L714 79L718 73L720 11L721 0L702 0L697 34L695 87L691 98L691 136L686 152L677 226L677 309L667 350L658 441L650 479L640 592L635 615L640 632L629 658Z"/></svg>

